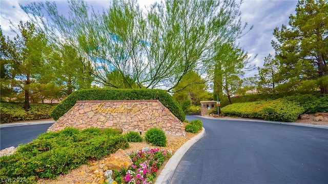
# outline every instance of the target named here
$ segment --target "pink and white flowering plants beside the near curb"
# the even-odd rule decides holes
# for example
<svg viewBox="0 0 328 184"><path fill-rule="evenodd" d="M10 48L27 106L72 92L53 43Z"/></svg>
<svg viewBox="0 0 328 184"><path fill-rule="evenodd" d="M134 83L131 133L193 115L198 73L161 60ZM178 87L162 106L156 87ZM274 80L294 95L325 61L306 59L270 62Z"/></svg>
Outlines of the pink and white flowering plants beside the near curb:
<svg viewBox="0 0 328 184"><path fill-rule="evenodd" d="M130 167L122 167L115 170L113 179L117 183L152 183L156 178L156 172L165 160L172 156L172 151L159 148L144 148L133 153L128 153L133 164Z"/></svg>

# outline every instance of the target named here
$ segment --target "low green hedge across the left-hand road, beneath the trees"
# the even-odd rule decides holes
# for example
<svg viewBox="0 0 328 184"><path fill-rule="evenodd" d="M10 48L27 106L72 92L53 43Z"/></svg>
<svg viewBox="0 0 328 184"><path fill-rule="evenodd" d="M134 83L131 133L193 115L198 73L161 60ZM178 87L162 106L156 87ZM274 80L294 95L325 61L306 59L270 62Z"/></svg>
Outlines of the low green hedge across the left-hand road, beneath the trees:
<svg viewBox="0 0 328 184"><path fill-rule="evenodd" d="M24 120L49 119L51 111L57 104L31 103L28 111L25 111L22 103L0 103L0 123L10 123Z"/></svg>

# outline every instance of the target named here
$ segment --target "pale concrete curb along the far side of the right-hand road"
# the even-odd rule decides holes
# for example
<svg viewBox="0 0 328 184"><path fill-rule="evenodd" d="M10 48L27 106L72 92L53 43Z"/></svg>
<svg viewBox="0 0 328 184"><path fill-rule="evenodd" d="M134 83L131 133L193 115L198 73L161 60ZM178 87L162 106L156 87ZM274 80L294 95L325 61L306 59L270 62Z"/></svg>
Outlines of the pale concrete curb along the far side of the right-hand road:
<svg viewBox="0 0 328 184"><path fill-rule="evenodd" d="M211 120L247 121L247 122L273 123L273 124L280 124L280 125L293 125L293 126L328 129L328 126L324 126L324 125L312 125L312 124L303 124L303 123L286 123L286 122L274 122L274 121L265 121L265 120L245 120L245 119L233 119L233 118L212 118L212 117L203 117L203 116L196 116L196 117L211 119Z"/></svg>

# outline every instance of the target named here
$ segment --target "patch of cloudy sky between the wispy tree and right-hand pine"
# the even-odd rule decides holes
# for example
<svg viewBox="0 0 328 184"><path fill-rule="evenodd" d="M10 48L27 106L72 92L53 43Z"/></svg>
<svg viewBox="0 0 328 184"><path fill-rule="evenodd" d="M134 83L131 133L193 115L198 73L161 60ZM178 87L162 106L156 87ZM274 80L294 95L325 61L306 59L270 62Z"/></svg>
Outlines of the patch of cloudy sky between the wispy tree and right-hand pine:
<svg viewBox="0 0 328 184"><path fill-rule="evenodd" d="M254 28L240 40L240 46L249 54L258 54L252 62L262 66L264 57L274 55L271 40L275 39L273 30L281 25L288 25L289 16L295 14L297 1L244 1L241 5L241 19ZM257 73L252 71L245 76L250 77Z"/></svg>

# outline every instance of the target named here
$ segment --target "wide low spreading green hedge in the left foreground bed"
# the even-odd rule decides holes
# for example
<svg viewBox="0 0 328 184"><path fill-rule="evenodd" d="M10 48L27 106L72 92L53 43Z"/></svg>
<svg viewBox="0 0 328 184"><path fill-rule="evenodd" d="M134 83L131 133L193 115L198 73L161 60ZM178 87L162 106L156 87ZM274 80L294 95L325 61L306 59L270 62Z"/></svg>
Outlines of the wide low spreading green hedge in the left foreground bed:
<svg viewBox="0 0 328 184"><path fill-rule="evenodd" d="M111 130L67 127L58 132L40 134L21 144L14 154L0 157L0 175L4 178L56 178L69 170L129 147L125 136Z"/></svg>

